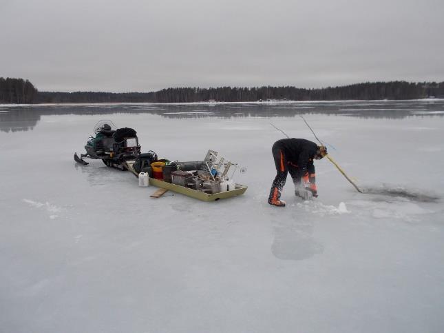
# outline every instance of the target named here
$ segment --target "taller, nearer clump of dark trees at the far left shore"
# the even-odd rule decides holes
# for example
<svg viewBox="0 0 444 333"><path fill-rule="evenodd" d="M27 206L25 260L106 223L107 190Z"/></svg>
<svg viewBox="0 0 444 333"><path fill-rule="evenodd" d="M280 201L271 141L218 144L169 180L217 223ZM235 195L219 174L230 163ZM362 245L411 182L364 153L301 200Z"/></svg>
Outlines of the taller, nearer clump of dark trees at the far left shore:
<svg viewBox="0 0 444 333"><path fill-rule="evenodd" d="M0 77L0 103L36 103L39 92L28 80Z"/></svg>

